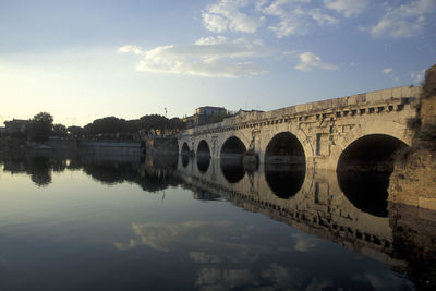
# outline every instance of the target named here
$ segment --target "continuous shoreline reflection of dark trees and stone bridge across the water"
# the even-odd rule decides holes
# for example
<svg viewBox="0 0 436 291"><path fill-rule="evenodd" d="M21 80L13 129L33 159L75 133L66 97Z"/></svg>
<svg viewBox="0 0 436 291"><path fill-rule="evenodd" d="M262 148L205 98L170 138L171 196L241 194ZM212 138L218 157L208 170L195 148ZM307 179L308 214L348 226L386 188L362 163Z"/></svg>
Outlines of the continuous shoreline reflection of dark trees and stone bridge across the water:
<svg viewBox="0 0 436 291"><path fill-rule="evenodd" d="M112 160L108 160L112 158ZM105 184L134 182L144 191L192 190L194 198L226 198L294 229L332 241L407 272L420 287L436 281L436 215L386 202L387 175L337 174L283 165L245 170L237 159L185 157L7 156L3 171L26 172L39 186L51 173L82 169Z"/></svg>

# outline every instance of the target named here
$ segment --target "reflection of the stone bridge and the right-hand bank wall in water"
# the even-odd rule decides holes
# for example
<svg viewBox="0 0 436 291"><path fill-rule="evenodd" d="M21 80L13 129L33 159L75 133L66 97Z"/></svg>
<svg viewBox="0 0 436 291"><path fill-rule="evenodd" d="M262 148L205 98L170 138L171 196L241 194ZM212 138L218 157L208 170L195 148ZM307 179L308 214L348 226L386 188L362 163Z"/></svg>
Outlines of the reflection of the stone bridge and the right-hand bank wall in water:
<svg viewBox="0 0 436 291"><path fill-rule="evenodd" d="M178 175L194 195L225 197L306 233L408 272L422 286L436 278L436 215L388 204L389 175L367 172L300 170L286 165L261 165L245 171L241 162L179 159ZM213 195L213 194L214 195Z"/></svg>

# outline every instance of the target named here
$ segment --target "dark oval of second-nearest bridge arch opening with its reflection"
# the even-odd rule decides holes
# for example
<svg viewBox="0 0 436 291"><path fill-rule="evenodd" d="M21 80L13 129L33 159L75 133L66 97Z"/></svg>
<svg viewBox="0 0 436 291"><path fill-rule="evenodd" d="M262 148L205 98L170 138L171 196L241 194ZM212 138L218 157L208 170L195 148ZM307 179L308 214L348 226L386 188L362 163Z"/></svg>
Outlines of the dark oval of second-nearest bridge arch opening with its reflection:
<svg viewBox="0 0 436 291"><path fill-rule="evenodd" d="M303 186L306 159L295 135L282 132L272 137L265 151L265 179L276 196L288 199Z"/></svg>

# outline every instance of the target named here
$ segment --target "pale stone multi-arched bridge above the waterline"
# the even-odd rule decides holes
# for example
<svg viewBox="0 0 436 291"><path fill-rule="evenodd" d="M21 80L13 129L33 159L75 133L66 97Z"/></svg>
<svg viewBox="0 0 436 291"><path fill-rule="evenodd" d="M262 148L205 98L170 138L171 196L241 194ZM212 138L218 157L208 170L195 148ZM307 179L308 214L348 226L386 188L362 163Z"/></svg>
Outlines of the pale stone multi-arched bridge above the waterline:
<svg viewBox="0 0 436 291"><path fill-rule="evenodd" d="M299 163L337 170L365 167L411 145L408 120L416 117L421 87L403 86L235 117L181 132L179 154L261 163ZM377 165L379 167L379 165Z"/></svg>

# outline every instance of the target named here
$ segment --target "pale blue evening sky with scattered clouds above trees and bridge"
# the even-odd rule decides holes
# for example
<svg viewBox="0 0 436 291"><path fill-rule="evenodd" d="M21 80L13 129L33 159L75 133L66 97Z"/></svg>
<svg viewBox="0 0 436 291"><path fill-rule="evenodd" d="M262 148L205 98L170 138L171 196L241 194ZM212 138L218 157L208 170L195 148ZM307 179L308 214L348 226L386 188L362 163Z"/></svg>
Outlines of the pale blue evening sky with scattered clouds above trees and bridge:
<svg viewBox="0 0 436 291"><path fill-rule="evenodd" d="M0 0L0 125L272 110L435 62L436 0Z"/></svg>

